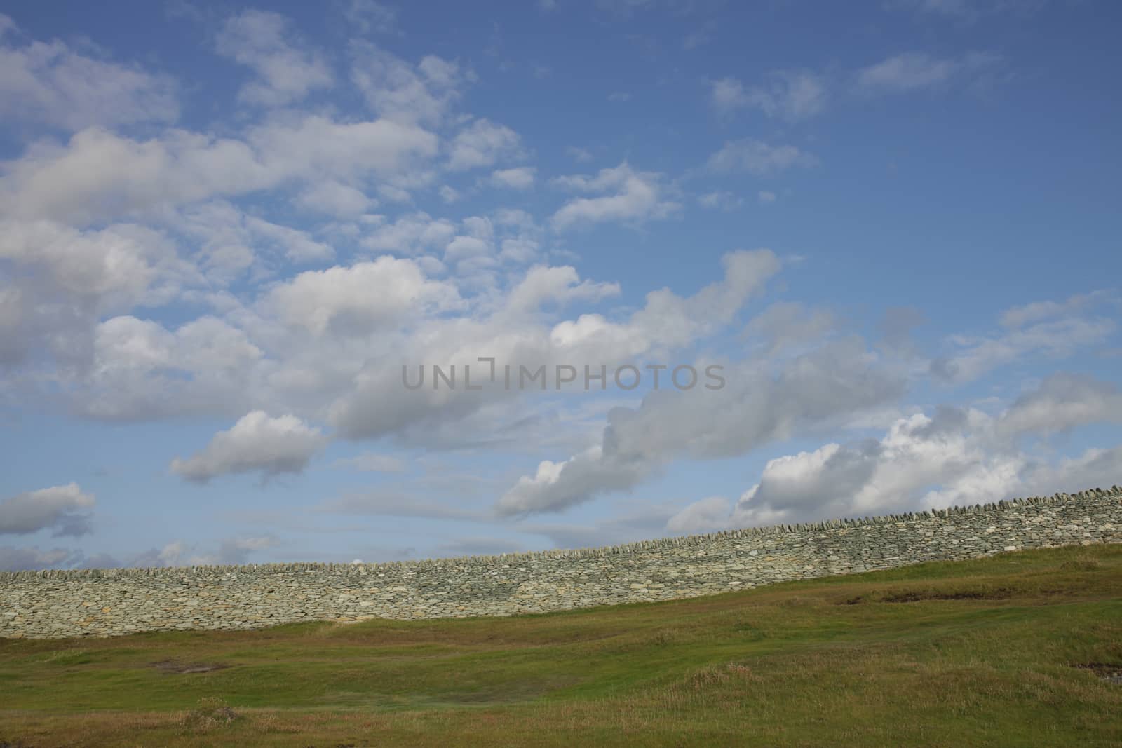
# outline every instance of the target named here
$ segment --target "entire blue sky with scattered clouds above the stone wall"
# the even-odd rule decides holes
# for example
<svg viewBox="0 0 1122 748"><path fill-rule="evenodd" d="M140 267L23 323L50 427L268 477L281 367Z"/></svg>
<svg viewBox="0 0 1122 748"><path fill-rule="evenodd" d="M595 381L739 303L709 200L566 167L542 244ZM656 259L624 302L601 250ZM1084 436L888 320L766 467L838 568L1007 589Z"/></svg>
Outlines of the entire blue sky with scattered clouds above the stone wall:
<svg viewBox="0 0 1122 748"><path fill-rule="evenodd" d="M6 2L0 569L1122 483L1120 21Z"/></svg>

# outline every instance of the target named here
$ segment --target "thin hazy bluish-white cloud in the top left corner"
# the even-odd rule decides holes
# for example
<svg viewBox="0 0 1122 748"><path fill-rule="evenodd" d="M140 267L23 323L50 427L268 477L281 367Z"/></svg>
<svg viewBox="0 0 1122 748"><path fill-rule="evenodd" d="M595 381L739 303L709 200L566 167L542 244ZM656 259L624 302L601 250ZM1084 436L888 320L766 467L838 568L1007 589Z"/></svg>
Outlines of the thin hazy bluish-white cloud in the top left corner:
<svg viewBox="0 0 1122 748"><path fill-rule="evenodd" d="M0 21L15 28L7 16ZM81 130L178 116L166 76L86 56L59 40L16 46L2 29L0 37L0 117L8 121Z"/></svg>

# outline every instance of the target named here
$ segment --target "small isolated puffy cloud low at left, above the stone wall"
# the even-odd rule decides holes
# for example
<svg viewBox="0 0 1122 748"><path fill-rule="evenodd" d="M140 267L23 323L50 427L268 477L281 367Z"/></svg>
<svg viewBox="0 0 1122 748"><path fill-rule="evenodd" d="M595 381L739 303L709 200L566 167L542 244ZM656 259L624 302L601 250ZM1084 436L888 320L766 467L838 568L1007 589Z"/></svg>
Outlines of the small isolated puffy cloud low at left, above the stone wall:
<svg viewBox="0 0 1122 748"><path fill-rule="evenodd" d="M295 416L273 418L254 410L230 431L214 434L203 451L187 460L173 460L172 472L197 482L231 473L260 472L266 478L298 473L325 445L319 428Z"/></svg>

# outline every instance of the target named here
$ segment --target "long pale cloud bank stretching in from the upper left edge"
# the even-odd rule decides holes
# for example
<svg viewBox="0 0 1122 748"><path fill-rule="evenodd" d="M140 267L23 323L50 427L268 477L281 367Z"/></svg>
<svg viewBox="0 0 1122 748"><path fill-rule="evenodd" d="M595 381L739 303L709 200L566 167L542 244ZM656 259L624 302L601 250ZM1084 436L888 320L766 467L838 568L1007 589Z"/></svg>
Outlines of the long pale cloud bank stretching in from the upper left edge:
<svg viewBox="0 0 1122 748"><path fill-rule="evenodd" d="M0 215L82 224L323 175L394 178L435 151L434 135L388 120L309 116L251 128L246 140L169 130L137 141L90 129L10 161Z"/></svg>

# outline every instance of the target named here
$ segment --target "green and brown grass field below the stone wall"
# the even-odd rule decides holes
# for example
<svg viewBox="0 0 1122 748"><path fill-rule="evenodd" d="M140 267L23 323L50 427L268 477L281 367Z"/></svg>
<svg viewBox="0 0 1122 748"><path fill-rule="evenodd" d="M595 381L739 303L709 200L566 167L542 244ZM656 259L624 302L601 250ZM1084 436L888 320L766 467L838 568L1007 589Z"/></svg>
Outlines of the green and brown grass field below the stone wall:
<svg viewBox="0 0 1122 748"><path fill-rule="evenodd" d="M517 618L4 639L0 746L1122 746L1111 674L1122 545Z"/></svg>

